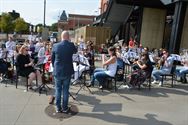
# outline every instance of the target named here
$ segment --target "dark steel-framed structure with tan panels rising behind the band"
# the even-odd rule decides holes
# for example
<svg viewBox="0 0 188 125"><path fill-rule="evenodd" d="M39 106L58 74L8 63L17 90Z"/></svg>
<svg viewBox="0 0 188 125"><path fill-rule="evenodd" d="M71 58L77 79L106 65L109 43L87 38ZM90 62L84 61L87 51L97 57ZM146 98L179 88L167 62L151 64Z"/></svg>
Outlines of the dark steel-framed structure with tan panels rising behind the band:
<svg viewBox="0 0 188 125"><path fill-rule="evenodd" d="M188 0L109 0L107 5L94 24L111 27L112 38L135 37L143 46L171 53L188 49Z"/></svg>

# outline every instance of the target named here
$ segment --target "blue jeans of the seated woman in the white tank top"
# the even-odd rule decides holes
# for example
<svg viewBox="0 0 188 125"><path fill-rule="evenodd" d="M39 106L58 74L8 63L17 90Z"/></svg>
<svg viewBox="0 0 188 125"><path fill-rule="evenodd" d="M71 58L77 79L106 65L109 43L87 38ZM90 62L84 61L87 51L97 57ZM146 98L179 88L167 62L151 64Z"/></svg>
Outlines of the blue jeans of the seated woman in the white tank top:
<svg viewBox="0 0 188 125"><path fill-rule="evenodd" d="M105 69L99 68L99 69L95 69L94 70L94 74L91 78L91 84L94 85L95 84L95 79L99 82L100 85L103 85L106 81L106 78L109 77L109 75L107 75L105 73Z"/></svg>

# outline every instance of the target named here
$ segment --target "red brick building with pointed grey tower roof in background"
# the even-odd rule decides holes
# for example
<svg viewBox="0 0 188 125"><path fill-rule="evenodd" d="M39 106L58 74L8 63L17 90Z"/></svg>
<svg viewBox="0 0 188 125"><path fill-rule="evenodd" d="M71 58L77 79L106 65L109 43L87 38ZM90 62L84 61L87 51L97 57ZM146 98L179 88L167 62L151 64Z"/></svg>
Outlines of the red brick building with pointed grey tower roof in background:
<svg viewBox="0 0 188 125"><path fill-rule="evenodd" d="M79 15L79 14L66 14L65 11L60 16L58 21L58 31L62 30L75 30L79 27L90 25L93 23L95 16Z"/></svg>

